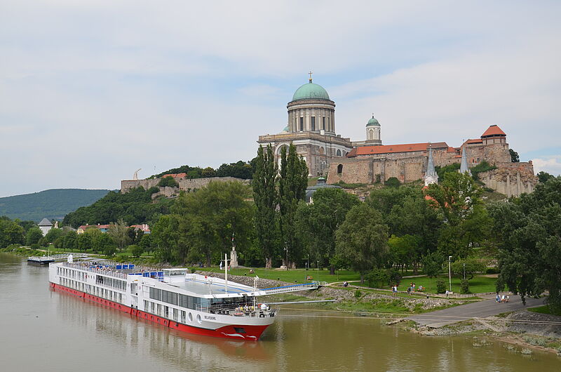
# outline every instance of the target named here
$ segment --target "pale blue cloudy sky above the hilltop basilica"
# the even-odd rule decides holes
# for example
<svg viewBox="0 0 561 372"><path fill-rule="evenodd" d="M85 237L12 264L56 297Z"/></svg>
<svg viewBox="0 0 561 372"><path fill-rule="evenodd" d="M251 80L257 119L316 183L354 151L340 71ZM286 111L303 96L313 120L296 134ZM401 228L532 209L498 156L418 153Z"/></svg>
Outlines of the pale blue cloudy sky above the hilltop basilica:
<svg viewBox="0 0 561 372"><path fill-rule="evenodd" d="M560 1L0 0L0 197L248 161L308 79L336 131L561 173Z"/></svg>

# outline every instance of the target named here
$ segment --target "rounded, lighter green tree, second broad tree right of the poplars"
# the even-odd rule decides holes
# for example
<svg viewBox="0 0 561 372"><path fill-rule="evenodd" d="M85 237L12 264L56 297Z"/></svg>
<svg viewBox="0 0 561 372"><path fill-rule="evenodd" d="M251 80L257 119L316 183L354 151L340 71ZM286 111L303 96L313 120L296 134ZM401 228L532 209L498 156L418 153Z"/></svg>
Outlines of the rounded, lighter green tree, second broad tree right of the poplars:
<svg viewBox="0 0 561 372"><path fill-rule="evenodd" d="M360 282L380 268L388 252L388 227L381 213L368 204L353 206L336 233L336 253L360 273Z"/></svg>

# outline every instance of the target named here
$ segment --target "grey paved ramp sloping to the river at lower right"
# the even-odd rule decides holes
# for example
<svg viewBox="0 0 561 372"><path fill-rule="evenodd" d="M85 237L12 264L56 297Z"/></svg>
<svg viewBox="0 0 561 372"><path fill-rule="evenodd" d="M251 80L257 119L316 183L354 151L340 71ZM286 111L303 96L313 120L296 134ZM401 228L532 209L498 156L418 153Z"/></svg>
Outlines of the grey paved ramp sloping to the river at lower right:
<svg viewBox="0 0 561 372"><path fill-rule="evenodd" d="M439 328L447 326L448 324L457 323L458 321L492 317L503 312L512 312L541 305L543 305L543 298L526 298L526 305L523 305L522 300L520 300L520 296L511 295L508 303L497 303L493 298L492 300L484 300L477 303L449 307L444 310L437 310L427 314L413 315L412 317L408 317L407 320L414 320L419 324L429 326L431 328Z"/></svg>

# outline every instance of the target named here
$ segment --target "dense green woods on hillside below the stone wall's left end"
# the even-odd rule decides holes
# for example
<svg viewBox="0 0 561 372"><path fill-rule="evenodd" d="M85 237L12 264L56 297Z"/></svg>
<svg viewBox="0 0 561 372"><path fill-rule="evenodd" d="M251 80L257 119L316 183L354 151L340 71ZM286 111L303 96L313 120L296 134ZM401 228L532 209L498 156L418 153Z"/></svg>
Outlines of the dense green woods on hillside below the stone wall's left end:
<svg viewBox="0 0 561 372"><path fill-rule="evenodd" d="M130 225L151 224L156 222L160 215L170 213L169 208L173 204L173 199L158 198L153 201L151 195L157 191L157 187L151 187L149 190L138 187L124 194L109 192L94 204L68 213L62 224L77 228L86 224L108 224L119 219Z"/></svg>

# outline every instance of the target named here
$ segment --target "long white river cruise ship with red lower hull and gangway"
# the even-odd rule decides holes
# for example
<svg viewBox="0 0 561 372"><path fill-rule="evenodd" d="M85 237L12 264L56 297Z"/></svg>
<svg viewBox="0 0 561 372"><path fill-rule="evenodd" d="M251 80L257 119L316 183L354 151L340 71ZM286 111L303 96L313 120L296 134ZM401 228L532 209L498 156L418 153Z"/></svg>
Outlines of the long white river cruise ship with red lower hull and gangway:
<svg viewBox="0 0 561 372"><path fill-rule="evenodd" d="M227 272L226 272L227 278ZM320 283L257 289L188 269L154 270L119 263L51 263L50 288L198 335L258 340L276 309L263 295L318 288Z"/></svg>

